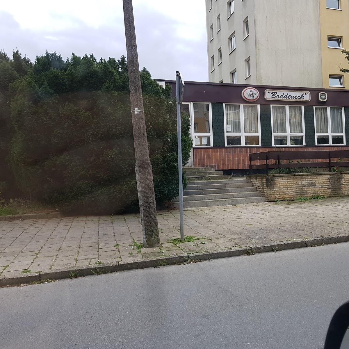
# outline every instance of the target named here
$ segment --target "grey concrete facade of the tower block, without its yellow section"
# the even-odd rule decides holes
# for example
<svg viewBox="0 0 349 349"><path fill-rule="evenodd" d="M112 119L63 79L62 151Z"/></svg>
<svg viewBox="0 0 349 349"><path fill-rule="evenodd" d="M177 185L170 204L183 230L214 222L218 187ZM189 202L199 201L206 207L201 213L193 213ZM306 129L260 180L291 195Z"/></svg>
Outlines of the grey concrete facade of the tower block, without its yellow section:
<svg viewBox="0 0 349 349"><path fill-rule="evenodd" d="M210 4L206 0L210 82L230 83L231 72L236 69L238 84L322 87L318 0L235 0L234 12L229 17L226 0L212 0L212 8ZM245 37L247 17L249 35ZM228 40L234 32L236 48L230 52ZM220 47L222 63L218 65ZM250 58L249 77L245 72L247 58Z"/></svg>

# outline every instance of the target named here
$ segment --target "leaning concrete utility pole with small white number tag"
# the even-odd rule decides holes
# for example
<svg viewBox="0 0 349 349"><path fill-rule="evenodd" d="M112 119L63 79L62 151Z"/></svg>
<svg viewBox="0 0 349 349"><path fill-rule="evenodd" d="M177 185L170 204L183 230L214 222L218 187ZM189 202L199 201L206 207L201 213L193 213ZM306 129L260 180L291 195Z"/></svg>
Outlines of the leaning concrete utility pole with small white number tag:
<svg viewBox="0 0 349 349"><path fill-rule="evenodd" d="M144 118L141 78L134 28L132 0L122 0L126 34L128 80L131 97L134 150L136 155L136 179L141 212L144 247L160 245L157 225L153 171L149 159L146 120Z"/></svg>

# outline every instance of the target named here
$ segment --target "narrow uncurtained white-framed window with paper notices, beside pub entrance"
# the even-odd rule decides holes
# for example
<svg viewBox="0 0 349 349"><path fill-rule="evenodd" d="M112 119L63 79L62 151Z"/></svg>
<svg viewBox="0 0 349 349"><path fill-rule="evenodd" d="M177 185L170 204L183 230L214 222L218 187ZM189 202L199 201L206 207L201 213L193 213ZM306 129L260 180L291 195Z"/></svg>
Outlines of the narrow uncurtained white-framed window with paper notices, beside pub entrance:
<svg viewBox="0 0 349 349"><path fill-rule="evenodd" d="M211 107L209 103L193 103L193 139L195 147L210 147L211 134Z"/></svg>

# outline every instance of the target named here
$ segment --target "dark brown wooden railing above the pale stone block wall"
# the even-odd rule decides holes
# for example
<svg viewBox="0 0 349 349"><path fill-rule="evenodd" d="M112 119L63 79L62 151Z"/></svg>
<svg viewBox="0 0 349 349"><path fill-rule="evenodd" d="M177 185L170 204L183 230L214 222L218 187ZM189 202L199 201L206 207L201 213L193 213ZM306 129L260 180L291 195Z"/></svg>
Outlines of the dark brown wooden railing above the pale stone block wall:
<svg viewBox="0 0 349 349"><path fill-rule="evenodd" d="M331 172L331 167L349 166L349 161L332 161L332 159L348 159L349 150L314 150L314 151L264 151L262 153L250 154L250 173L253 169L265 169L268 173L269 169L277 168L301 168L301 167L327 167ZM327 160L327 161L324 161ZM270 163L274 160L274 163ZM294 163L291 161L298 160ZM302 160L322 160L313 162L303 162ZM262 164L253 165L252 162L260 161ZM283 163L283 161L287 161Z"/></svg>

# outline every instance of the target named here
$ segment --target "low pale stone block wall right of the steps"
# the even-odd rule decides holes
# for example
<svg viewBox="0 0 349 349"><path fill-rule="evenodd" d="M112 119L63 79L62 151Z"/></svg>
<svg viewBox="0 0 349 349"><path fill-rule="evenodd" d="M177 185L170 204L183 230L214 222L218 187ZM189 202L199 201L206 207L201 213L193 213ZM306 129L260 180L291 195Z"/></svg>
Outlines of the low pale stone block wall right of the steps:
<svg viewBox="0 0 349 349"><path fill-rule="evenodd" d="M349 172L246 176L267 201L349 195Z"/></svg>

